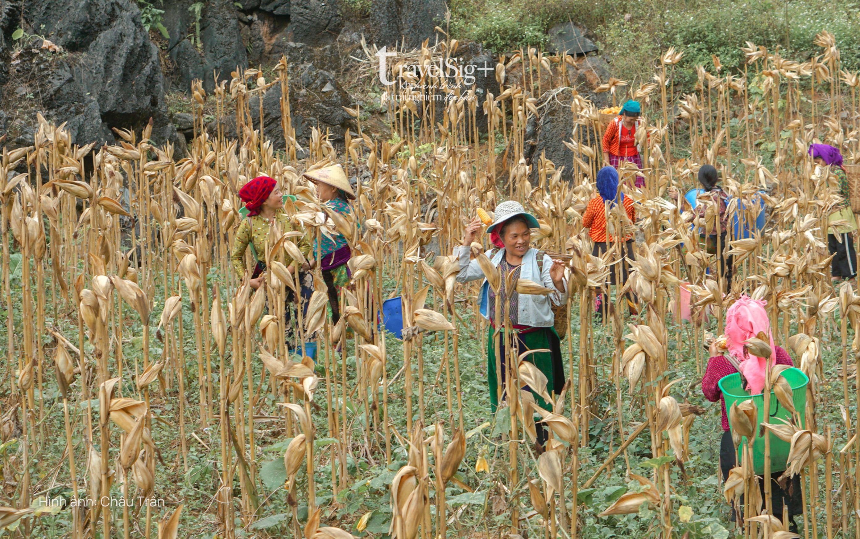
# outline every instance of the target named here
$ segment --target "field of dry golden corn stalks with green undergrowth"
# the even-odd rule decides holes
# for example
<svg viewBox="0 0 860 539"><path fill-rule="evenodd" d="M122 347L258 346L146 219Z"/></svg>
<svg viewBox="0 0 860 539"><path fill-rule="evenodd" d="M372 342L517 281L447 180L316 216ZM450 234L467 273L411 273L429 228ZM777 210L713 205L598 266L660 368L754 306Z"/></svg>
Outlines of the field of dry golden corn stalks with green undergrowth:
<svg viewBox="0 0 860 539"><path fill-rule="evenodd" d="M746 401L730 410L733 425L748 439L760 432L765 444L790 443L800 536L860 538L860 295L832 285L826 216L838 190L807 155L821 142L846 162L860 159L860 73L840 68L830 34L816 43L805 62L747 43L743 70L715 57L689 93L673 83L682 56L673 50L653 79L599 88L613 104L641 101L647 126L637 132L644 168L619 171L630 186L643 175L645 186L625 187L636 201L636 261L617 287L606 285L621 271L617 249L594 256L581 224L601 166L599 107L575 91L564 103L574 118L564 141L572 169L523 157L527 120L568 86L569 56L502 57L501 95L427 71L410 81L417 89L384 96L390 138L348 109L357 130L336 145L316 130L306 148L298 144L286 58L273 81L235 72L214 95L195 83L195 136L181 159L169 144L151 144L149 128L78 147L40 117L32 144L3 149L0 161L0 530L73 539L797 537L772 516L769 496L757 498L746 459L729 481L702 481L720 477L716 454L697 454L705 444L696 442L716 436L719 407L697 404L698 384L728 305L745 293L767 301L776 344L809 383L793 421L759 425ZM389 77L457 47L400 52ZM375 51L365 52L360 70ZM251 119L251 98L274 83L283 148ZM439 107L427 99L439 92L462 99ZM206 132L212 99L235 113L237 140ZM302 175L332 163L359 178L351 217L325 211ZM767 207L762 230L728 237L728 294L715 255L691 231L713 228L714 211L692 217L668 194L696 187L704 163L720 168L729 211L743 221L755 221L759 200ZM242 220L238 189L258 175L297 199L286 203L292 230L273 226L261 254L271 271L253 290L229 257ZM531 391L506 390L490 413L478 286L456 283L451 252L477 208L506 199L538 218L532 245L567 264L567 379L560 395L547 394L527 354L507 346L508 387ZM314 270L316 291L289 322L299 342L316 345L311 358L286 340L285 301L299 283L284 260L305 261L299 236L335 233L353 252L340 321ZM494 289L518 286L492 265L485 273ZM690 321L679 317L682 287ZM615 303L604 324L593 316L599 288ZM637 315L623 308L626 291ZM399 340L378 323L396 297ZM770 375L765 394L790 406L780 371ZM535 414L550 432L544 450L534 445ZM762 476L770 484L767 452ZM694 492L721 518L700 515ZM745 494L744 518L730 523L728 502Z"/></svg>

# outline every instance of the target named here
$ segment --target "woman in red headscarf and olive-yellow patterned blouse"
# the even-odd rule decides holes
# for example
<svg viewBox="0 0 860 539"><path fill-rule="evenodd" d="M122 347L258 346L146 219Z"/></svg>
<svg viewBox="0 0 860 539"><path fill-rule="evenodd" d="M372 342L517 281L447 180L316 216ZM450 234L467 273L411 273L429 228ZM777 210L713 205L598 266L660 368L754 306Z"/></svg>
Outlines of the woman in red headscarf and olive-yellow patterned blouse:
<svg viewBox="0 0 860 539"><path fill-rule="evenodd" d="M284 200L278 182L273 178L259 176L249 181L239 190L239 198L245 203L248 217L243 219L242 224L239 224L239 230L236 231L230 261L241 279L246 273L245 251L250 246L256 265L250 275L249 283L252 288L259 288L266 277L266 263L263 259L269 229L273 223L278 223L281 230L287 232L292 230L292 225L284 211ZM303 254L310 252L310 244L304 239L299 242L298 248ZM292 260L285 260L285 263L290 267Z"/></svg>

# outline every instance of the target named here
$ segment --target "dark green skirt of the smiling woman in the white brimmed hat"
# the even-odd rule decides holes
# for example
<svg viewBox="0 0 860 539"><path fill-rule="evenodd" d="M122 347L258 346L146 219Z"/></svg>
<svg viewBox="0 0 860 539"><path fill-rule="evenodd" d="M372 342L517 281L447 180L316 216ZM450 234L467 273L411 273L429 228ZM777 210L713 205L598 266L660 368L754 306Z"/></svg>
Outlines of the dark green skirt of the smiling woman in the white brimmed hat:
<svg viewBox="0 0 860 539"><path fill-rule="evenodd" d="M487 328L487 384L489 386L489 401L490 408L495 413L496 407L499 406L499 399L496 393L496 383L498 377L495 371L495 343L493 340L494 328ZM507 330L506 330L507 331ZM501 355L501 390L502 395L505 395L505 384L507 382L507 367L504 339L499 334L500 343L499 351ZM525 352L526 350L537 350L540 348L549 349L550 352L538 352L526 356L528 361L537 365L537 369L544 373L547 379L546 390L550 395L558 395L564 388L564 366L562 364L562 344L558 339L555 328L539 328L535 331L516 336L517 352L515 355ZM524 389L528 389L527 387ZM531 390L531 389L530 389ZM552 411L552 404L544 401L543 398L535 394L537 406L544 410Z"/></svg>

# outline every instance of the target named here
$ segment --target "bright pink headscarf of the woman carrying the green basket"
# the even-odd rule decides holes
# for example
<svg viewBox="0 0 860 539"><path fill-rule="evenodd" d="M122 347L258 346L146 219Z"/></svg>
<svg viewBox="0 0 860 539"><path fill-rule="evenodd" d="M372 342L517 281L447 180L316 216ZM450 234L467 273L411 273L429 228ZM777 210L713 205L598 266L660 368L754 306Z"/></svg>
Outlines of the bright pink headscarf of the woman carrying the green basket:
<svg viewBox="0 0 860 539"><path fill-rule="evenodd" d="M776 363L777 347L773 344L766 304L764 300L745 295L726 311L726 346L740 362L740 372L746 377L746 389L750 395L759 395L765 389L767 361L771 361L771 367ZM744 341L755 337L759 332L765 332L770 340L771 350L774 352L771 358L758 358L744 348Z"/></svg>

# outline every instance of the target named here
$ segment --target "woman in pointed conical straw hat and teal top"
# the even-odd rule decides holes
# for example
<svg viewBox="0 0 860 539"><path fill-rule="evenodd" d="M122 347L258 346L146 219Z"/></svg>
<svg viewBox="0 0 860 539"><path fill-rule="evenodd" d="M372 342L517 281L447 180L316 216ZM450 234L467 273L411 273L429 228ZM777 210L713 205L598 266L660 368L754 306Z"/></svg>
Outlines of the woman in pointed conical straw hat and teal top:
<svg viewBox="0 0 860 539"><path fill-rule="evenodd" d="M315 168L304 173L304 177L316 185L316 197L331 211L341 214L351 214L352 207L349 201L355 199L353 187L349 185L347 175L341 165ZM322 236L319 245L313 244L313 260L304 269L312 269L316 266L316 252L320 255L320 269L322 279L325 280L329 292L329 304L331 305L332 320L337 322L341 318L338 302L338 289L349 283L349 268L347 262L352 257L352 251L347 243L347 238L342 234Z"/></svg>

